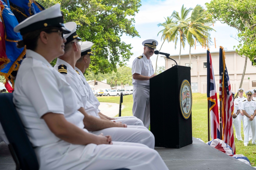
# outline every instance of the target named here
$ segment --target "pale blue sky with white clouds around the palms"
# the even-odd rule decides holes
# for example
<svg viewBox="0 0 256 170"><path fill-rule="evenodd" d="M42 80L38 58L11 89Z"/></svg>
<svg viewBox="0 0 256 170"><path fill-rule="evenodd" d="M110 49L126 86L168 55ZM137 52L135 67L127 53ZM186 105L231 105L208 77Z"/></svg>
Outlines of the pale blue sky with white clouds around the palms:
<svg viewBox="0 0 256 170"><path fill-rule="evenodd" d="M128 66L132 66L133 60L142 55L143 53L143 45L142 42L147 39L154 39L158 41L158 46L156 47L156 50L159 50L163 41L161 41L162 34L160 33L158 36L158 32L163 29L163 27L158 27L158 23L165 22L165 18L168 16L171 16L173 11L177 11L180 13L180 9L182 5L184 4L184 7L188 8L194 8L197 4L201 5L206 9L205 3L210 3L210 0L197 0L197 1L191 1L191 0L184 0L184 1L173 1L173 0L141 0L142 6L139 8L139 12L135 15L135 28L138 31L139 35L141 37L129 37L126 35L123 35L121 37L121 41L124 41L126 44L132 45L131 52L133 53L133 56L130 58L129 62L127 62ZM219 21L214 23L214 26L211 25L211 27L216 30L210 32L211 34L211 40L213 43L209 45L210 51L215 52L219 51L219 46L223 46L224 48L227 48L226 50L234 50L233 46L237 46L239 42L234 38L237 36L238 31L233 28L229 27L225 23L220 23ZM214 37L216 39L216 48L214 45ZM179 55L179 43L177 44L177 48L174 48L173 42L164 42L161 52L163 53L169 53L170 55ZM207 47L206 47L207 48ZM206 53L205 48L202 48L202 46L197 43L196 49L195 47L191 48L191 54L194 53ZM181 54L189 54L189 45L186 43L185 48L181 50ZM156 57L157 55L153 55L150 57L153 67L155 69L156 66ZM178 61L177 61L178 62ZM164 58L158 56L157 60L157 66L165 66L165 60Z"/></svg>

